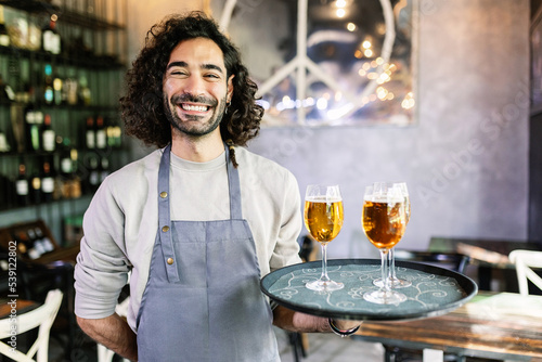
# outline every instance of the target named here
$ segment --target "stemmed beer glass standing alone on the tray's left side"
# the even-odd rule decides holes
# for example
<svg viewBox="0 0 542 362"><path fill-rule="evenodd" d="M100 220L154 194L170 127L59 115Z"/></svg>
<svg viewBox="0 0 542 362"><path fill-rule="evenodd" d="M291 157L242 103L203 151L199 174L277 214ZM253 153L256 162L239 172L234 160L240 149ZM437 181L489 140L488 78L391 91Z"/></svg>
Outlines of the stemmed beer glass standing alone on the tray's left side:
<svg viewBox="0 0 542 362"><path fill-rule="evenodd" d="M322 248L322 274L319 280L306 284L318 292L337 290L345 285L327 275L327 244L343 228L343 197L338 185L311 184L305 194L305 227Z"/></svg>

